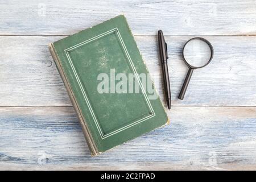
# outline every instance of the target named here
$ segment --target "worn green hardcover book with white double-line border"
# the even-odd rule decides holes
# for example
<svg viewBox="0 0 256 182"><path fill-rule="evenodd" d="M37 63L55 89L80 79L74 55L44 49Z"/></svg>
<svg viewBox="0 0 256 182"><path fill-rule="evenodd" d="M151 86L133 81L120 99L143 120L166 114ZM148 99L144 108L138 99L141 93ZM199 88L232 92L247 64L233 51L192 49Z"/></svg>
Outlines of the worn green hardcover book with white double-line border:
<svg viewBox="0 0 256 182"><path fill-rule="evenodd" d="M125 16L49 50L93 156L169 122Z"/></svg>

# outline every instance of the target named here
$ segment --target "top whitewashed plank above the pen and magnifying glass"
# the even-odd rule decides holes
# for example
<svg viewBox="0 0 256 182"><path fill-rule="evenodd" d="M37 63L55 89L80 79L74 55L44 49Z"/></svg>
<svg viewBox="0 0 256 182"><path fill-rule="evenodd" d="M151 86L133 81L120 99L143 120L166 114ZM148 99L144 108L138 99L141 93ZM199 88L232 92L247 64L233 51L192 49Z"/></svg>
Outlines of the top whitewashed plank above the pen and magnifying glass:
<svg viewBox="0 0 256 182"><path fill-rule="evenodd" d="M70 35L125 14L135 35L255 35L256 2L1 1L1 35Z"/></svg>

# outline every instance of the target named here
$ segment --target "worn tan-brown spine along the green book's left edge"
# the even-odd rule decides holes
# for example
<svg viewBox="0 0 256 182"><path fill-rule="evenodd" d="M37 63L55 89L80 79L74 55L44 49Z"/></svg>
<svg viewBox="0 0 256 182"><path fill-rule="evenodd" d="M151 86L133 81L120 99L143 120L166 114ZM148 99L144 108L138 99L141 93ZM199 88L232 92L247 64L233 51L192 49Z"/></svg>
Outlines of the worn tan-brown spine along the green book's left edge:
<svg viewBox="0 0 256 182"><path fill-rule="evenodd" d="M55 51L55 48L54 48L53 44L52 43L49 44L48 48L49 48L49 51L51 52L53 60L55 61L57 70L59 71L60 76L61 76L61 78L64 82L65 88L68 91L69 98L71 99L71 102L72 102L72 105L73 105L73 107L76 111L77 117L79 118L79 122L82 126L82 131L84 133L86 143L88 144L88 147L90 149L90 152L91 152L92 156L96 156L96 155L99 154L99 152L97 150L96 145L93 142L92 135L90 134L89 128L86 125L85 119L84 119L84 117L82 117L81 110L79 109L79 106L77 105L76 98L75 98L75 96L72 92L71 86L68 83L67 77L65 76L65 73L64 73L63 68L61 66L61 62L59 60L59 57L57 56L57 53Z"/></svg>

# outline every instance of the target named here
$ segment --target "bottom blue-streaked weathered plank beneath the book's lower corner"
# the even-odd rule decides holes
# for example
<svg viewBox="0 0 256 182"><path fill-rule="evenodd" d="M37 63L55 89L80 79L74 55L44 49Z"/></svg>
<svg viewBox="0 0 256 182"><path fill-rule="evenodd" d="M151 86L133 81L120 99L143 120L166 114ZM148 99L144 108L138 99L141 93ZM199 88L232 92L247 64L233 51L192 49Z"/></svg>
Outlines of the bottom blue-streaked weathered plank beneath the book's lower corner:
<svg viewBox="0 0 256 182"><path fill-rule="evenodd" d="M73 107L1 107L0 169L255 169L256 107L172 107L171 125L90 157Z"/></svg>

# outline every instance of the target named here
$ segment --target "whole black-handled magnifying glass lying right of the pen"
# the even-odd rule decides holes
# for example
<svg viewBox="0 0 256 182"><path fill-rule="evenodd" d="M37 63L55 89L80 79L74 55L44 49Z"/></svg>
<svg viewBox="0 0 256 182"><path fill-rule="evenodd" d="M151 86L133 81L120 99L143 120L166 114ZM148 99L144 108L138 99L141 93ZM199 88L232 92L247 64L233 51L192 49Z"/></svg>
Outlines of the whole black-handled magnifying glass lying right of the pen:
<svg viewBox="0 0 256 182"><path fill-rule="evenodd" d="M192 38L185 43L182 56L185 64L188 65L189 70L178 97L180 100L183 100L185 96L194 69L203 68L212 61L212 44L204 38Z"/></svg>

